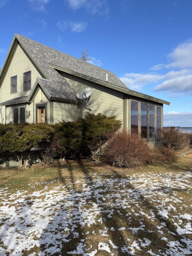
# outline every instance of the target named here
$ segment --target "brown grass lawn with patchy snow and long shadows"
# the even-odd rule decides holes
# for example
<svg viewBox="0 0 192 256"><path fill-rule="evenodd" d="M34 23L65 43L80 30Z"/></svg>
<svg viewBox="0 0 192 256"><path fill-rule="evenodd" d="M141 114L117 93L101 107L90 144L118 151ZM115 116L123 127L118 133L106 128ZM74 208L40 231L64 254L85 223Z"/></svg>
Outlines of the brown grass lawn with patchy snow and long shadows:
<svg viewBox="0 0 192 256"><path fill-rule="evenodd" d="M192 157L0 170L0 255L192 255Z"/></svg>

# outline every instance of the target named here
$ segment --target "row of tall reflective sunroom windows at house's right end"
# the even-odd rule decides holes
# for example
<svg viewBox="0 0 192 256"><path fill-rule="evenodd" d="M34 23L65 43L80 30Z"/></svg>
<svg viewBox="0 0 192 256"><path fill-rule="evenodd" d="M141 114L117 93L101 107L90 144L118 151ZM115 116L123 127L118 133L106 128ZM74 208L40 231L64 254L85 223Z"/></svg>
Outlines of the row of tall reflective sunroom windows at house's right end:
<svg viewBox="0 0 192 256"><path fill-rule="evenodd" d="M158 137L162 128L162 107L131 100L131 132L141 138Z"/></svg>

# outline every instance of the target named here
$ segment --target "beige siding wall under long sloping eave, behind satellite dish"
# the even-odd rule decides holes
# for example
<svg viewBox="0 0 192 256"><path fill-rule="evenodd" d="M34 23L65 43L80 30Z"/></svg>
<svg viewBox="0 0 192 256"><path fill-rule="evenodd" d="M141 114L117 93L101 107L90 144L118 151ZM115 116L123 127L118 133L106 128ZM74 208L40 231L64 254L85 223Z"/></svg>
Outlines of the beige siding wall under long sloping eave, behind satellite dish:
<svg viewBox="0 0 192 256"><path fill-rule="evenodd" d="M88 102L92 109L91 113L102 113L107 116L115 115L118 119L123 120L123 93L64 72L61 72L61 74L75 92L85 87L91 88L91 97Z"/></svg>

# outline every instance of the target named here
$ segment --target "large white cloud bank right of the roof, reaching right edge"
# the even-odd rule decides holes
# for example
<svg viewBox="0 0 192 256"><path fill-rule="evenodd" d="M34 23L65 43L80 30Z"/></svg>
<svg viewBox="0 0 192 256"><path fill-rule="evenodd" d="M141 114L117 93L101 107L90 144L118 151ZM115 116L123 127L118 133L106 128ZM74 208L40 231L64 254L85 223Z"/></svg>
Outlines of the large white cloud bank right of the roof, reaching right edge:
<svg viewBox="0 0 192 256"><path fill-rule="evenodd" d="M158 64L150 70L158 71L163 67L177 68L165 74L150 72L146 74L126 73L120 80L132 90L141 90L149 84L156 92L167 92L171 97L179 97L183 94L192 95L192 39L179 44L168 58L173 61L168 65ZM179 68L183 68L179 70Z"/></svg>

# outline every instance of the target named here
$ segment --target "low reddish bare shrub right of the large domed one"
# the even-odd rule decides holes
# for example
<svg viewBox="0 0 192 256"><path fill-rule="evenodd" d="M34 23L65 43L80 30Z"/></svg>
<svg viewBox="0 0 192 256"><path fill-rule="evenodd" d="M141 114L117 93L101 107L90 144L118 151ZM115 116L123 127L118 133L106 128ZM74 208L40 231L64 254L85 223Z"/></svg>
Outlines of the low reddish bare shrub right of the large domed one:
<svg viewBox="0 0 192 256"><path fill-rule="evenodd" d="M155 146L152 150L152 163L175 162L177 160L176 153L170 147L162 145Z"/></svg>

